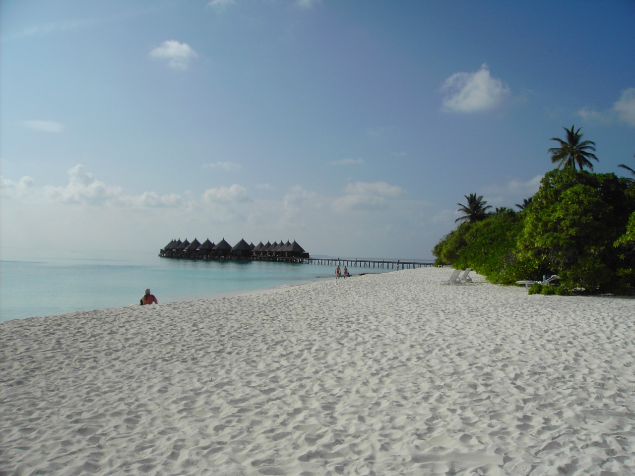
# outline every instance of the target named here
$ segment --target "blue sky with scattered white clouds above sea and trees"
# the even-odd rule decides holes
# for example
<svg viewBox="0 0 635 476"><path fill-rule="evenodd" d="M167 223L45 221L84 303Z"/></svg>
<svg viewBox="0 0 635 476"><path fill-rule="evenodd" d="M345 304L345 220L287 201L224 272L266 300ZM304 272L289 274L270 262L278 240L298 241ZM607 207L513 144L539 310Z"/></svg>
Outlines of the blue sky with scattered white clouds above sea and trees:
<svg viewBox="0 0 635 476"><path fill-rule="evenodd" d="M0 257L296 240L432 258L582 128L635 168L635 2L3 0Z"/></svg>

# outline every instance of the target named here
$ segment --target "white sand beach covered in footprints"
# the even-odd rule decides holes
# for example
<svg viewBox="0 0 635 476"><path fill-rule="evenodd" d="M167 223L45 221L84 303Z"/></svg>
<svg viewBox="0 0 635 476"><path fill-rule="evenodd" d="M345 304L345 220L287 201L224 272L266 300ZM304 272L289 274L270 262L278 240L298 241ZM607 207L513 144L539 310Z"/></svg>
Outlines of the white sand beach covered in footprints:
<svg viewBox="0 0 635 476"><path fill-rule="evenodd" d="M425 268L0 324L0 475L635 474L635 300Z"/></svg>

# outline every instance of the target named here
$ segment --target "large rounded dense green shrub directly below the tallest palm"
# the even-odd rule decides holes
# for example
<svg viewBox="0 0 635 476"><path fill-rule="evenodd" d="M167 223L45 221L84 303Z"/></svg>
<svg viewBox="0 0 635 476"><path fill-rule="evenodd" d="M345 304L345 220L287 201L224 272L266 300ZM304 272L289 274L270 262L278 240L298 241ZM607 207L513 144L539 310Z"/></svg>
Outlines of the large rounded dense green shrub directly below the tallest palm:
<svg viewBox="0 0 635 476"><path fill-rule="evenodd" d="M613 174L572 168L542 179L525 215L518 259L535 275L558 274L560 286L587 293L624 292L613 244L635 204Z"/></svg>

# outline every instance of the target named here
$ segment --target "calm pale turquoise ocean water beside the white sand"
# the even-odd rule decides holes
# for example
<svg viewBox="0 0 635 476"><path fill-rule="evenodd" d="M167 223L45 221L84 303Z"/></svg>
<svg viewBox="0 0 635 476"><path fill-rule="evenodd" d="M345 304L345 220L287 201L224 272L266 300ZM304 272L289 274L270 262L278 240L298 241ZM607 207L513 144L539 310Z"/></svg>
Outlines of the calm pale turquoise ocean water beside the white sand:
<svg viewBox="0 0 635 476"><path fill-rule="evenodd" d="M352 275L386 268L350 268ZM138 305L145 288L160 303L215 298L334 279L335 267L265 261L190 261L155 253L0 250L0 321Z"/></svg>

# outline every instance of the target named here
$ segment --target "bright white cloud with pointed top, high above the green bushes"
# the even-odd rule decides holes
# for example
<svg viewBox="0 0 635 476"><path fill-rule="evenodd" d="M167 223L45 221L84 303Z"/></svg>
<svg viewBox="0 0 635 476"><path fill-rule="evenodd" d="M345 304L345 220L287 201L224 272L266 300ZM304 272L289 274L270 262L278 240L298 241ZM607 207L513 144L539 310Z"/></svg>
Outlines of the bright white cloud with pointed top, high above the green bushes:
<svg viewBox="0 0 635 476"><path fill-rule="evenodd" d="M443 83L443 110L447 112L479 112L499 107L511 94L509 86L490 75L486 64L477 72L458 72Z"/></svg>

